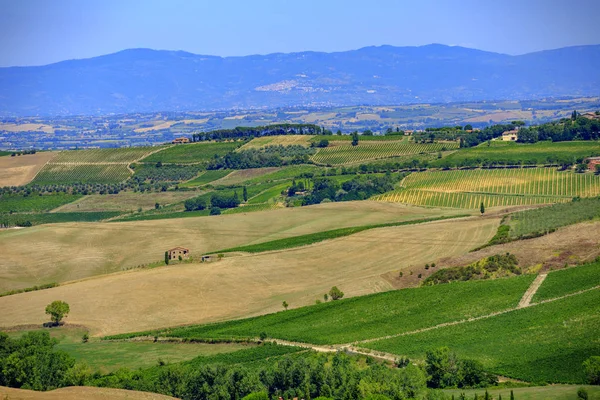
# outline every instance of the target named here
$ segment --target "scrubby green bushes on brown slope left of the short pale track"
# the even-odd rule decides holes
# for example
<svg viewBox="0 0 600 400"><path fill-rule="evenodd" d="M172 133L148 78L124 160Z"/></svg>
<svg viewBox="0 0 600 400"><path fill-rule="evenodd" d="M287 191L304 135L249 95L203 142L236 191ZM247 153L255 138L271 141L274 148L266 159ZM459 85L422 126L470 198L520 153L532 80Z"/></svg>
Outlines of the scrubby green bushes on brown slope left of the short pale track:
<svg viewBox="0 0 600 400"><path fill-rule="evenodd" d="M454 281L469 281L520 275L519 262L513 254L497 254L486 257L464 267L444 268L434 272L423 282L423 286L439 285Z"/></svg>

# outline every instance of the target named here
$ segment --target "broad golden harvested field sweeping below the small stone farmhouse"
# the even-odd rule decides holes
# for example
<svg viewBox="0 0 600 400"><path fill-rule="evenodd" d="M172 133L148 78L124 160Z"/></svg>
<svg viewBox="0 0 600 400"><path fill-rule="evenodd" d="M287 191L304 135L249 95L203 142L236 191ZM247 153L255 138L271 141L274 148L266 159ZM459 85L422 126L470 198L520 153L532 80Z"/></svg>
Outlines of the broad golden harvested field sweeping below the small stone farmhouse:
<svg viewBox="0 0 600 400"><path fill-rule="evenodd" d="M270 213L275 213L271 211ZM379 228L295 249L84 280L0 298L0 326L41 324L53 300L94 335L247 317L314 304L337 285L347 297L392 289L382 277L487 242L499 218ZM323 258L327 254L327 259ZM406 272L409 273L409 272Z"/></svg>

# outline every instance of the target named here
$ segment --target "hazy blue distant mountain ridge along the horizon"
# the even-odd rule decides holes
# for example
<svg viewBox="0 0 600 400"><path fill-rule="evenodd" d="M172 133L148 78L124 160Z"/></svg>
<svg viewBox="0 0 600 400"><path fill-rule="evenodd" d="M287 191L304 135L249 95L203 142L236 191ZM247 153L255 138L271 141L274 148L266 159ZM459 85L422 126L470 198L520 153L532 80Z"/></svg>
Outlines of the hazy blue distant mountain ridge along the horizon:
<svg viewBox="0 0 600 400"><path fill-rule="evenodd" d="M0 115L593 96L599 65L600 45L520 56L438 44L243 57L130 49L0 68Z"/></svg>

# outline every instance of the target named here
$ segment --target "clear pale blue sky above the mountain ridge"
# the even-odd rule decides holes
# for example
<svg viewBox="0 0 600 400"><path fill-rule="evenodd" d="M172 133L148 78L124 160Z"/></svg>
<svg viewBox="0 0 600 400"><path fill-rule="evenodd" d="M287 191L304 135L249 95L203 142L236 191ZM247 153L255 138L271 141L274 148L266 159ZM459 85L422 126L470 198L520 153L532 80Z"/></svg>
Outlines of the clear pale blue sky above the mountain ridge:
<svg viewBox="0 0 600 400"><path fill-rule="evenodd" d="M243 56L459 45L505 54L600 44L600 0L0 0L0 66L128 48Z"/></svg>

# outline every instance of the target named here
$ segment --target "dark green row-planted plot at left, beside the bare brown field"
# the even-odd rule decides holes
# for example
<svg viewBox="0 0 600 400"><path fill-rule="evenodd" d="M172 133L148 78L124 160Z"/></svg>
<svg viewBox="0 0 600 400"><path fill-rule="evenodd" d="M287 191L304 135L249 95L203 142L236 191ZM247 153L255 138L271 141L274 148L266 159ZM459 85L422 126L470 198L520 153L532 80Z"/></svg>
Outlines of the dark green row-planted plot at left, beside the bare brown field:
<svg viewBox="0 0 600 400"><path fill-rule="evenodd" d="M48 163L36 175L32 184L120 183L127 180L130 175L131 172L126 164Z"/></svg>

